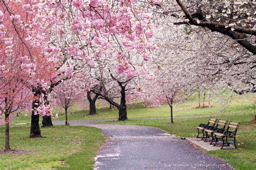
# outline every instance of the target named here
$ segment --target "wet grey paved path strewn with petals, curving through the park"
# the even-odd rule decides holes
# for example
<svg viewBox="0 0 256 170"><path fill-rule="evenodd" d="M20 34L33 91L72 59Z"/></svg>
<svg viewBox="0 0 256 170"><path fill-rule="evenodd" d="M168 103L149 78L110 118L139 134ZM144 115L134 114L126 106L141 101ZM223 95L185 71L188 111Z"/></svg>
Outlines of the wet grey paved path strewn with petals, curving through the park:
<svg viewBox="0 0 256 170"><path fill-rule="evenodd" d="M160 129L91 122L70 121L70 124L93 126L110 136L95 158L95 169L232 169L223 160ZM53 123L64 124L64 121Z"/></svg>

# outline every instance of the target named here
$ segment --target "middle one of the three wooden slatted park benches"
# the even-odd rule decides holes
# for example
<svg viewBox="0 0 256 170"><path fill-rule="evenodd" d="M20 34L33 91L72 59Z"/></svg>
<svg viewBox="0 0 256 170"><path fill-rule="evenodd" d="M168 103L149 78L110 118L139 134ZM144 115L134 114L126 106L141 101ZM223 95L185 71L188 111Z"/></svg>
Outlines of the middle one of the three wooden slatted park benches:
<svg viewBox="0 0 256 170"><path fill-rule="evenodd" d="M212 137L211 143L210 143L211 145L214 141L213 133L217 132L218 129L224 130L226 125L227 125L227 121L218 120L215 126L207 126L204 130L205 136L206 136L204 141L207 141L208 138Z"/></svg>

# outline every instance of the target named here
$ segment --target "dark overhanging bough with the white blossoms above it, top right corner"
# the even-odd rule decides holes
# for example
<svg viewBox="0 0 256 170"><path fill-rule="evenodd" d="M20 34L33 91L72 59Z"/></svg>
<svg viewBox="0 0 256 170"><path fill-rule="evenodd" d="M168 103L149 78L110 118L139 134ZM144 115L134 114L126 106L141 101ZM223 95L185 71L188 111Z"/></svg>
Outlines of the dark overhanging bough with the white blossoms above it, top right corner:
<svg viewBox="0 0 256 170"><path fill-rule="evenodd" d="M188 18L186 23L207 27L211 31L225 34L251 53L256 54L256 47L250 40L250 37L256 36L253 19L255 18L255 2L207 2L191 8L186 8L179 0L177 3ZM196 12L191 13L189 10Z"/></svg>

